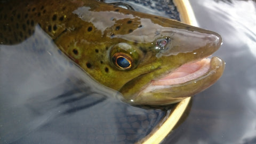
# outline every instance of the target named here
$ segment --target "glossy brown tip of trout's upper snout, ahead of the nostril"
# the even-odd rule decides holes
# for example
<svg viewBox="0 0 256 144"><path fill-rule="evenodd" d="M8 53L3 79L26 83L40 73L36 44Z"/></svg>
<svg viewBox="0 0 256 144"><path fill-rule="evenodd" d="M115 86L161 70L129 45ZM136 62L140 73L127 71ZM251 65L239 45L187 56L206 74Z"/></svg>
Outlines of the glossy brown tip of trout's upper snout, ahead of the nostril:
<svg viewBox="0 0 256 144"><path fill-rule="evenodd" d="M200 59L217 51L222 43L219 34L208 30L203 32L172 29L171 31L164 31L163 35L166 33L171 33L169 44L166 44L166 48L156 54L158 58L186 53L191 54L193 59Z"/></svg>

